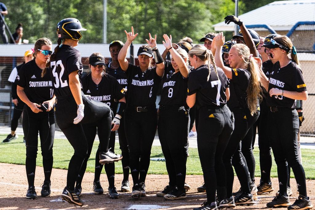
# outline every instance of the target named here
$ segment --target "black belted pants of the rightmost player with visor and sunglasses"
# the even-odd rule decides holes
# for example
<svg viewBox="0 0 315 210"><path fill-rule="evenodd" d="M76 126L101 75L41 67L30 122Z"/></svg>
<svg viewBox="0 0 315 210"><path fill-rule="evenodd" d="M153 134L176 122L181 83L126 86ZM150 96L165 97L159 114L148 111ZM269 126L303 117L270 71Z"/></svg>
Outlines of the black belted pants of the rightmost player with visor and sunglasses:
<svg viewBox="0 0 315 210"><path fill-rule="evenodd" d="M288 163L293 170L300 195L306 195L304 168L299 161L297 133L299 116L296 110L281 108L277 112L268 112L269 135L273 156L277 164L279 190L287 195Z"/></svg>

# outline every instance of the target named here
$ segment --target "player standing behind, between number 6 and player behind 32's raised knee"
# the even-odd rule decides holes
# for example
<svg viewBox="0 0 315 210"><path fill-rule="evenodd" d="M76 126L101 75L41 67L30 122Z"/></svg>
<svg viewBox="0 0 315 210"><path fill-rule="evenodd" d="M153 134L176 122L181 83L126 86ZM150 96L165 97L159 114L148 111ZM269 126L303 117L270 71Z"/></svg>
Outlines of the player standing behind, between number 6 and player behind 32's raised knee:
<svg viewBox="0 0 315 210"><path fill-rule="evenodd" d="M121 48L123 47L123 43L119 40L112 41L109 45L109 52L111 53L112 61L106 66L106 73L115 77L120 85L127 90L128 80L126 73L120 68L118 62L118 54ZM117 103L114 103L117 106ZM116 111L116 108L112 108L113 111ZM111 132L111 140L115 140L116 132ZM121 150L121 154L123 159L121 160L123 166L123 182L121 185L122 192L128 192L129 188L129 148L128 142L125 133L125 125L124 118L120 119L120 125L118 128L118 138L119 138L119 146ZM99 170L99 169L97 169Z"/></svg>

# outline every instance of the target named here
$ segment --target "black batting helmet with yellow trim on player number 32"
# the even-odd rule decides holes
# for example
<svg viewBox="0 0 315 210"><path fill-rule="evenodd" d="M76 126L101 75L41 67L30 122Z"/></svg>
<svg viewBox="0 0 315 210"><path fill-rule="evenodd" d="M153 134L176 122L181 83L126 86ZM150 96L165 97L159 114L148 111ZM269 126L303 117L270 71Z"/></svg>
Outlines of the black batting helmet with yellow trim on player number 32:
<svg viewBox="0 0 315 210"><path fill-rule="evenodd" d="M57 35L60 39L79 41L82 38L80 31L86 31L86 29L82 28L80 21L76 18L65 18L57 24Z"/></svg>

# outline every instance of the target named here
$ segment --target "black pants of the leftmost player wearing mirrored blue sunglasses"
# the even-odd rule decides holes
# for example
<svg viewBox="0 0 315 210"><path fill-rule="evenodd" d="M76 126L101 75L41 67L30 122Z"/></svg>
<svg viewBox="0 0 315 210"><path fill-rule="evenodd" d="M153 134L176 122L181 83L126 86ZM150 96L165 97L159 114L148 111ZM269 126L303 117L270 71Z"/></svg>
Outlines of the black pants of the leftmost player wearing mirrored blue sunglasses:
<svg viewBox="0 0 315 210"><path fill-rule="evenodd" d="M26 176L28 185L34 186L38 133L43 156L44 181L50 181L53 168L53 144L55 134L54 110L34 113L27 105L23 111L23 132L26 144Z"/></svg>

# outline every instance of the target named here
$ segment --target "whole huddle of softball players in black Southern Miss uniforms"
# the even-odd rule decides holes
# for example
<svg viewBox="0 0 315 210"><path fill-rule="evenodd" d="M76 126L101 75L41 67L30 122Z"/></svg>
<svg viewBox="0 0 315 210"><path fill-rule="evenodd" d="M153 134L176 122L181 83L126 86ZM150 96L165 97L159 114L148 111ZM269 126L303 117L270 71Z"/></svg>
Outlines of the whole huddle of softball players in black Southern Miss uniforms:
<svg viewBox="0 0 315 210"><path fill-rule="evenodd" d="M100 184L104 166L108 195L119 197L114 162L121 160L121 191L130 190L130 171L131 196L146 196L145 181L156 130L169 175L169 185L164 189L161 186L163 190L157 196L185 199L190 189L185 183L187 136L195 122L204 178L197 190L206 192L207 201L194 210L253 205L257 194L273 191L271 149L277 163L279 191L266 206L311 209L297 146L303 121L301 101L307 99L307 90L296 49L286 36L259 37L237 17L229 15L225 20L240 27L231 41L225 42L222 32L208 33L200 40L204 45L192 46L187 40L172 43L172 36L164 34L162 54L157 36L149 33L147 45L137 53L139 66L126 59L138 35L131 27L131 32L125 31L126 43L110 43L111 62L106 63L100 53L89 56L90 73L83 78L81 54L74 48L81 31L86 31L79 20L66 18L57 24L58 46L54 52L49 39L38 39L35 59L21 65L15 79L17 95L26 104L26 198L37 196L34 177L38 132L45 174L41 196L50 195L56 119L74 149L63 200L83 205L81 184L96 133L100 142L95 154L94 193L104 193ZM171 59L167 60L169 55ZM256 128L261 166L258 186L253 155ZM116 131L121 155L114 153ZM237 192L233 192L233 167L241 185ZM288 198L292 195L290 168L299 191L293 204Z"/></svg>

